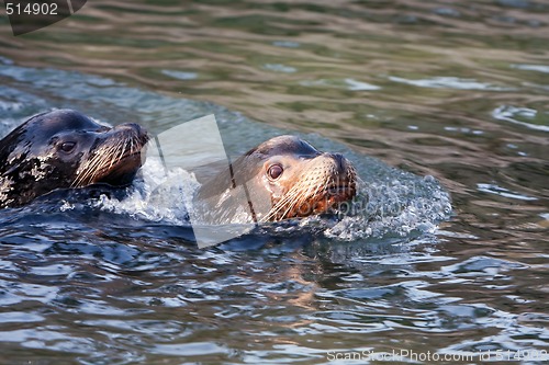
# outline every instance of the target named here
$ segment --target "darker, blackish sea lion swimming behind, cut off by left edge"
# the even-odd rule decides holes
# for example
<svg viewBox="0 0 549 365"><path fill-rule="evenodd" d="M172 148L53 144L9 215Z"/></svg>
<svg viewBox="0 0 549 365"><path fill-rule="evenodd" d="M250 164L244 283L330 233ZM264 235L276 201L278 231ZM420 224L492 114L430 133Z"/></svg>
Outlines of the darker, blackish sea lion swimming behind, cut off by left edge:
<svg viewBox="0 0 549 365"><path fill-rule="evenodd" d="M72 110L37 114L0 140L0 207L56 189L130 184L147 140L136 124L111 128Z"/></svg>

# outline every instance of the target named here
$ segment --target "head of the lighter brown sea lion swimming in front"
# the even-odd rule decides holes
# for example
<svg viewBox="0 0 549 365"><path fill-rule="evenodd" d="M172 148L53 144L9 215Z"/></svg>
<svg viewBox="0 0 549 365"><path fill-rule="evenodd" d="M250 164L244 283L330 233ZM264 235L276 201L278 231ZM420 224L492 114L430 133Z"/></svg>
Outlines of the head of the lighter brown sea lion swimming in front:
<svg viewBox="0 0 549 365"><path fill-rule="evenodd" d="M340 153L321 152L295 136L259 145L260 175L272 208L261 220L327 213L356 194L356 170Z"/></svg>

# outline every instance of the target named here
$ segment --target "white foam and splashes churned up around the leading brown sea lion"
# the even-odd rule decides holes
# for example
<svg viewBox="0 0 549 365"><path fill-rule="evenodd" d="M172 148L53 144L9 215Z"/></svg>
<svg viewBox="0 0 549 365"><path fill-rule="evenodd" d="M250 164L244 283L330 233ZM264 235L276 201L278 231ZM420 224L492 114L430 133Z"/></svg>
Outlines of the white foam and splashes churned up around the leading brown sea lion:
<svg viewBox="0 0 549 365"><path fill-rule="evenodd" d="M136 183L130 196L122 201L103 196L97 204L102 209L137 219L190 225L189 216L195 208L192 197L199 186L193 174L179 168L166 173L159 161L148 161L143 167L143 180ZM355 241L385 235L405 237L413 231L432 233L450 214L450 196L433 176L418 178L388 167L385 175L359 184L357 197L350 204L340 205L336 219L314 217L283 226L287 233L311 224L315 230L322 227L327 238ZM247 221L249 216L244 214L232 223ZM276 228L280 224L264 225Z"/></svg>

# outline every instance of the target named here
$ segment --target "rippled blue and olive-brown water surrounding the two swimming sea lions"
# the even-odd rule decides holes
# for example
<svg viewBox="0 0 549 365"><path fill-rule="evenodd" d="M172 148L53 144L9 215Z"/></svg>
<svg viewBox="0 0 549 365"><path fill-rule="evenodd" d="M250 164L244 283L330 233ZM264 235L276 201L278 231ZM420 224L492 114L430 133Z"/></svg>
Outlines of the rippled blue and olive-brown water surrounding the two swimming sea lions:
<svg viewBox="0 0 549 365"><path fill-rule="evenodd" d="M316 364L407 350L480 363L508 350L541 363L548 15L529 0L94 0L20 37L0 18L2 136L49 107L155 134L214 113L234 150L303 134L341 148L365 181L417 182L439 202L433 175L453 208L438 229L395 221L349 241L368 225L330 236L312 221L206 250L186 226L80 196L3 209L0 362Z"/></svg>

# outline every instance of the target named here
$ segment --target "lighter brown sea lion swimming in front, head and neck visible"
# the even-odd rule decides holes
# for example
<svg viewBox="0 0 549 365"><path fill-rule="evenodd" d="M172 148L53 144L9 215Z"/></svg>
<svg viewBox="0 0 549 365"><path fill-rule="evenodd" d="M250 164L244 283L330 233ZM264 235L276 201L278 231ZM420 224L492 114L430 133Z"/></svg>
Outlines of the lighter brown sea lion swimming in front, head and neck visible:
<svg viewBox="0 0 549 365"><path fill-rule="evenodd" d="M203 183L195 201L205 203L214 223L277 221L329 213L352 199L356 185L356 170L344 156L279 136Z"/></svg>

